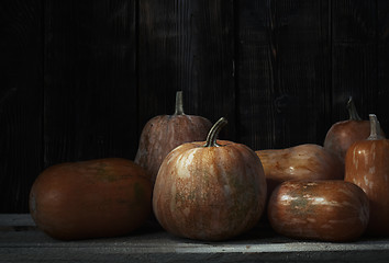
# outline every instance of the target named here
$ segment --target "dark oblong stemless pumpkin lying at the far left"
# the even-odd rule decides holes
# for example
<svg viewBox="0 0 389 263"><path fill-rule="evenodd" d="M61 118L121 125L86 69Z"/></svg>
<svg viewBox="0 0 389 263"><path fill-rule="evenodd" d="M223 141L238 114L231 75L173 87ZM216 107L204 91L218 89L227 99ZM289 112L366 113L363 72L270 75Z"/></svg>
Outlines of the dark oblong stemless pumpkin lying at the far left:
<svg viewBox="0 0 389 263"><path fill-rule="evenodd" d="M36 226L62 240L123 236L140 228L151 210L146 172L121 158L52 165L30 192Z"/></svg>

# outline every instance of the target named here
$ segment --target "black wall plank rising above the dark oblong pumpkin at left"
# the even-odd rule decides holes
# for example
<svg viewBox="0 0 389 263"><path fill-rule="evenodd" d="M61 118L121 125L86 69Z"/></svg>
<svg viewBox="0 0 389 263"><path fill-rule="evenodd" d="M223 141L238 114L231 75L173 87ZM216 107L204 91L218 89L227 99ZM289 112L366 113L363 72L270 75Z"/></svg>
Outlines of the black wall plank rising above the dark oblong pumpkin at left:
<svg viewBox="0 0 389 263"><path fill-rule="evenodd" d="M45 167L133 159L135 1L46 1L45 25Z"/></svg>

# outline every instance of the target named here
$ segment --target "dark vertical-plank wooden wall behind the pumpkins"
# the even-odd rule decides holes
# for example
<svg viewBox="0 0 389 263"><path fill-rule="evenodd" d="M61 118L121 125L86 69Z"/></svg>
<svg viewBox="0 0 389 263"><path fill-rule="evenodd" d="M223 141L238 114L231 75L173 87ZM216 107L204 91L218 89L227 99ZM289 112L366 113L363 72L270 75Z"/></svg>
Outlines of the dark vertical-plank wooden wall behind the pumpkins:
<svg viewBox="0 0 389 263"><path fill-rule="evenodd" d="M349 95L389 130L389 1L3 0L0 70L0 213L25 213L48 165L133 159L177 90L254 150L322 144Z"/></svg>

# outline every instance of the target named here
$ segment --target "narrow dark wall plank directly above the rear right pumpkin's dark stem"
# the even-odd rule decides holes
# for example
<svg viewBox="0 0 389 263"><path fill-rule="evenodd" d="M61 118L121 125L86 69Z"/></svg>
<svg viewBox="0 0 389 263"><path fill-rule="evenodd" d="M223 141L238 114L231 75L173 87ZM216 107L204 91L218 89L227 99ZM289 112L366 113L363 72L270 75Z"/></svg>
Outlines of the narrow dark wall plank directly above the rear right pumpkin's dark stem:
<svg viewBox="0 0 389 263"><path fill-rule="evenodd" d="M332 122L348 118L349 96L368 119L377 105L377 2L332 2Z"/></svg>

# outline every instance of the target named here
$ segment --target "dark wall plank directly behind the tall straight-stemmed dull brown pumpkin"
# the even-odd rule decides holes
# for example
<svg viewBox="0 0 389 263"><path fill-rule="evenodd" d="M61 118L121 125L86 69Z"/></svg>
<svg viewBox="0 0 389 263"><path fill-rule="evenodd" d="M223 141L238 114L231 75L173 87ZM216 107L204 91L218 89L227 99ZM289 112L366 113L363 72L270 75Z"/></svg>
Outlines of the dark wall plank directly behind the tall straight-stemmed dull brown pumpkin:
<svg viewBox="0 0 389 263"><path fill-rule="evenodd" d="M234 138L233 28L231 1L140 1L140 128L182 90L187 114L226 117Z"/></svg>

